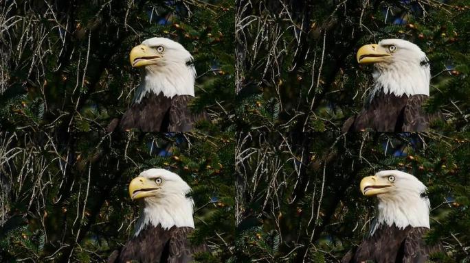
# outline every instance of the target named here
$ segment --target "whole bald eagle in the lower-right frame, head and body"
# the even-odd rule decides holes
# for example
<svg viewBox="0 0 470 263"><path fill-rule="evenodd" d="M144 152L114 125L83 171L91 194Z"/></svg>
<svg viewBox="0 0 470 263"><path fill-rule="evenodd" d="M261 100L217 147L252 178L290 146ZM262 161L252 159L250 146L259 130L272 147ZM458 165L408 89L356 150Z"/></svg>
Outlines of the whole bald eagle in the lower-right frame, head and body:
<svg viewBox="0 0 470 263"><path fill-rule="evenodd" d="M379 199L377 215L368 237L343 262L427 262L429 253L443 251L428 246L423 235L429 231L429 199L426 186L401 171L380 171L361 180L361 192Z"/></svg>

